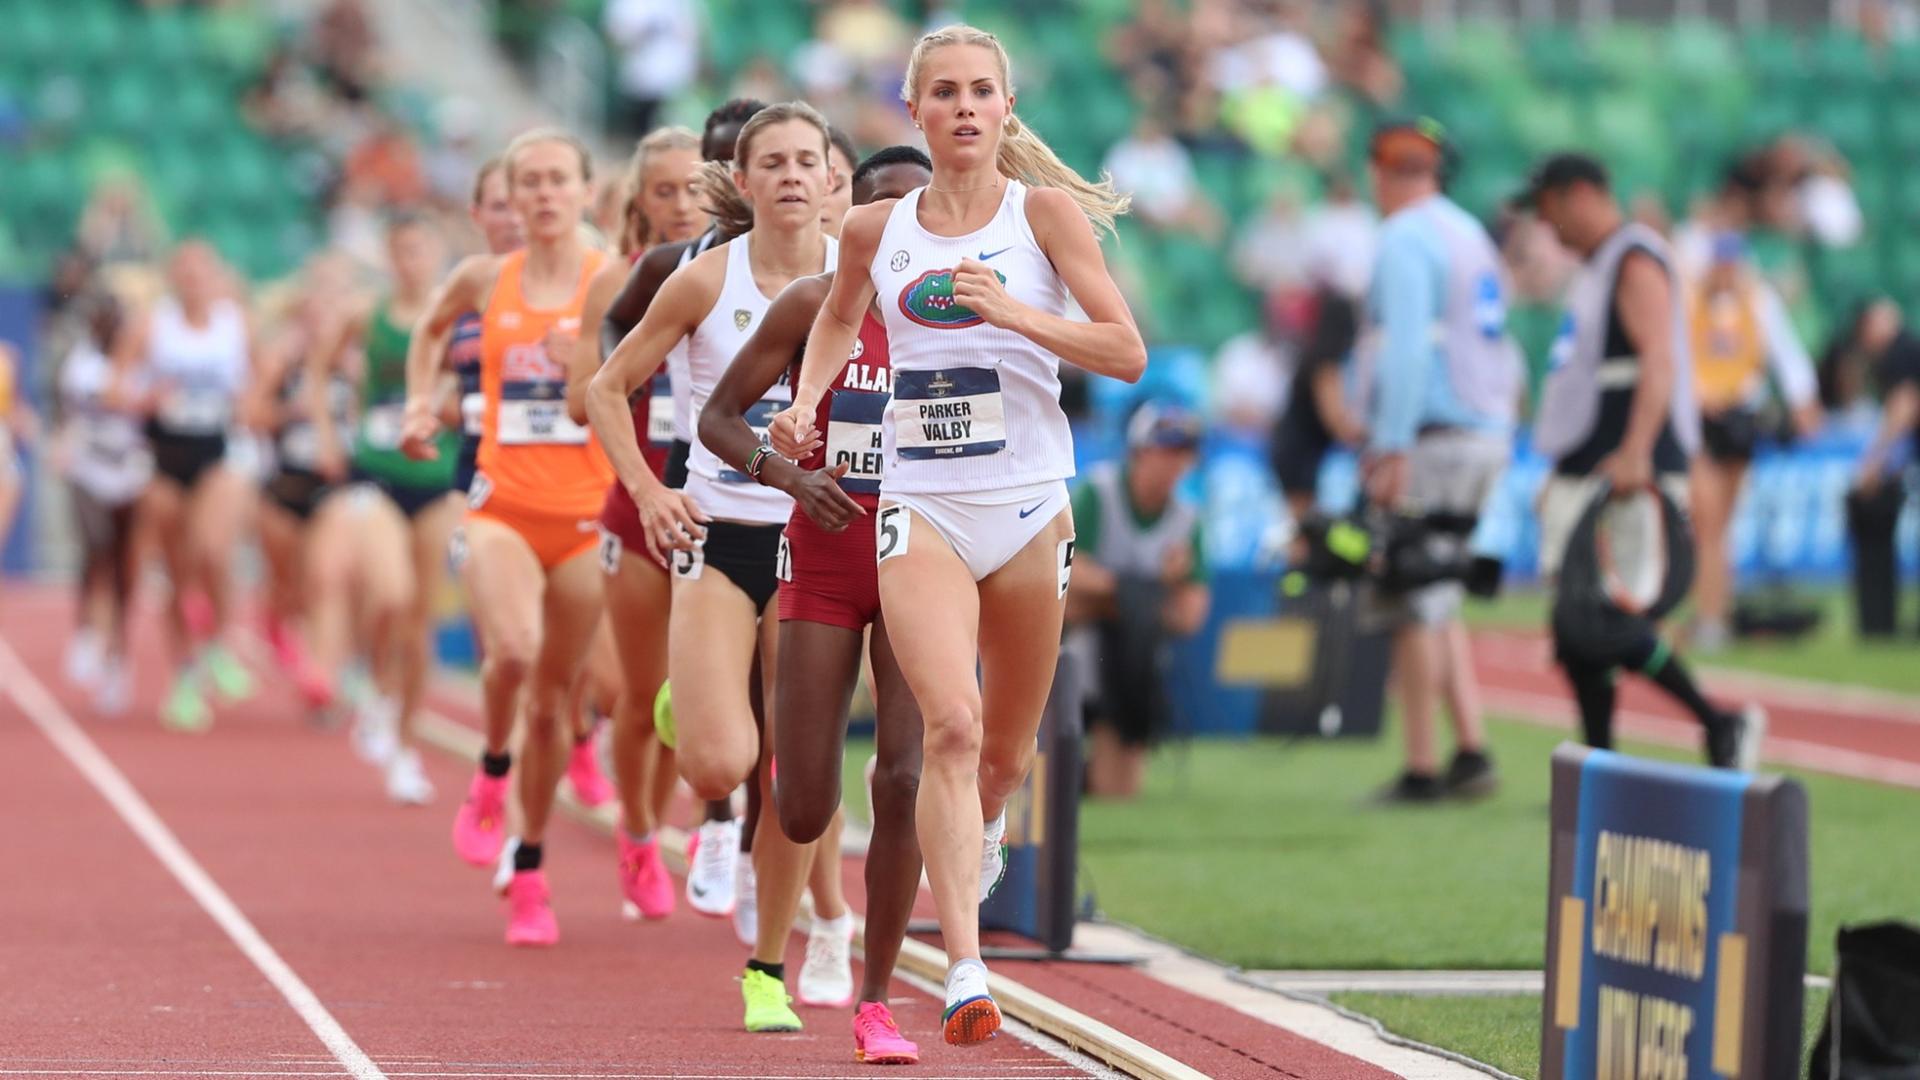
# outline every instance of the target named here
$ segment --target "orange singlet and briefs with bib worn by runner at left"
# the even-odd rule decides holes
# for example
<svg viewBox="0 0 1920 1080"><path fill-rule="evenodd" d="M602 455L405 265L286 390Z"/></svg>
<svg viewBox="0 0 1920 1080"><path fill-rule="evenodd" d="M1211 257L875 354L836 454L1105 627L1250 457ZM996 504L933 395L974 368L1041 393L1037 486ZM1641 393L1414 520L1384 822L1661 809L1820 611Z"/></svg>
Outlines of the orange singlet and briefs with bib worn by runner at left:
<svg viewBox="0 0 1920 1080"><path fill-rule="evenodd" d="M526 252L501 258L480 331L480 469L468 517L518 532L543 569L599 544L599 511L612 467L593 432L566 417L566 359L547 354L555 331L580 334L588 282L607 261L589 250L563 307L538 309L520 294Z"/></svg>

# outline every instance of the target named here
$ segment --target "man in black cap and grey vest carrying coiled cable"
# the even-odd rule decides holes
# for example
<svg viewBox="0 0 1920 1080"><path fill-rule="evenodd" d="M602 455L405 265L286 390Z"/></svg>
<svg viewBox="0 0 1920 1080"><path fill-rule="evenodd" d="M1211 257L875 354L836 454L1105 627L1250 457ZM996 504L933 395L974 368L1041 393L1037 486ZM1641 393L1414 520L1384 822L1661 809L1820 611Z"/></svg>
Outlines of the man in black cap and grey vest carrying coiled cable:
<svg viewBox="0 0 1920 1080"><path fill-rule="evenodd" d="M1521 200L1584 259L1534 419L1534 446L1553 461L1540 492L1540 573L1559 588L1574 527L1601 490L1634 494L1659 482L1686 505L1699 407L1672 254L1659 233L1622 219L1607 169L1584 154L1557 154L1534 171ZM1764 715L1715 707L1653 623L1630 619L1628 626L1596 655L1569 642L1555 621L1555 659L1572 684L1586 742L1613 746L1613 680L1626 667L1699 719L1713 765L1751 767Z"/></svg>

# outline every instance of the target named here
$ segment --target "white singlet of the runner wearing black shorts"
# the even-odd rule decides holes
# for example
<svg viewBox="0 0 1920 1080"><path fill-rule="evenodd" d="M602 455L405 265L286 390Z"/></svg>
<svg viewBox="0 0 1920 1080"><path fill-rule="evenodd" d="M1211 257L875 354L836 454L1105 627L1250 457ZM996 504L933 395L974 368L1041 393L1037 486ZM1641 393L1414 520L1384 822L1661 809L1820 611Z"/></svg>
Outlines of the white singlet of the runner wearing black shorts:
<svg viewBox="0 0 1920 1080"><path fill-rule="evenodd" d="M839 259L839 242L826 238L826 263L822 271L833 269ZM747 525L785 525L793 517L793 498L778 488L768 488L753 477L720 461L714 452L699 440L699 415L707 407L720 375L733 363L753 331L760 327L766 309L774 302L760 292L753 281L753 233L735 238L726 246L726 281L712 311L701 319L685 338L687 346L687 398L689 413L695 417L693 454L687 457L687 494L710 517L722 521L743 521ZM816 271L818 273L818 271ZM676 386L678 390L678 386ZM774 413L793 404L793 386L785 373L780 382L768 386L766 394L747 409L747 425L760 440L774 423Z"/></svg>

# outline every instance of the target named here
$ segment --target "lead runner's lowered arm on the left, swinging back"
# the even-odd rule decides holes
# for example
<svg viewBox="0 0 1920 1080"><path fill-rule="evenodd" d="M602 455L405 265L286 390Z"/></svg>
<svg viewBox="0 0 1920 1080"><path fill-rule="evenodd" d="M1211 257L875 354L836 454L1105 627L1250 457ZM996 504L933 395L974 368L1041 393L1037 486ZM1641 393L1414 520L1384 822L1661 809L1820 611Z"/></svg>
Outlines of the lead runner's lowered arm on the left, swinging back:
<svg viewBox="0 0 1920 1080"><path fill-rule="evenodd" d="M793 388L793 407L774 417L768 438L774 450L787 457L806 457L820 446L814 430L814 411L833 380L847 369L852 342L860 336L860 319L874 302L874 275L868 265L879 250L879 234L887 229L893 204L870 202L847 211L841 225L839 269L833 288L820 306L814 329L806 334L806 356L801 359L801 382Z"/></svg>

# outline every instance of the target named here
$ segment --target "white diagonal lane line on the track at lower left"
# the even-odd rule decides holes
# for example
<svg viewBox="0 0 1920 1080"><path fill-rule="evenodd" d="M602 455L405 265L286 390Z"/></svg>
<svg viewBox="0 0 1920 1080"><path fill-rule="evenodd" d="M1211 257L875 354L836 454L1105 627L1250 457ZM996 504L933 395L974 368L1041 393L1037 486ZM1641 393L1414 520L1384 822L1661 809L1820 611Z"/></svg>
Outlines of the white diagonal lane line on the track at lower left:
<svg viewBox="0 0 1920 1080"><path fill-rule="evenodd" d="M348 1074L357 1080L384 1080L386 1074L380 1067L348 1036L340 1020L334 1020L326 1005L321 1005L313 990L294 974L294 969L280 959L280 953L267 944L267 938L261 938L253 922L240 913L240 907L186 851L180 838L159 821L159 815L140 798L140 792L127 780L127 774L100 751L94 740L60 707L60 701L27 671L27 665L21 663L19 655L4 640L0 640L0 686L6 688L13 703L27 713L27 719L40 728L40 734L65 755L81 776L86 776L86 782L127 822L127 828L146 844L146 849L159 859L159 865L167 867L167 872L180 882L180 888L200 903L200 909L232 938L232 944L238 945L246 959L253 961L253 967L267 976L267 982L280 992L280 997L286 997L286 1003L307 1022Z"/></svg>

